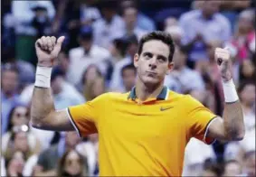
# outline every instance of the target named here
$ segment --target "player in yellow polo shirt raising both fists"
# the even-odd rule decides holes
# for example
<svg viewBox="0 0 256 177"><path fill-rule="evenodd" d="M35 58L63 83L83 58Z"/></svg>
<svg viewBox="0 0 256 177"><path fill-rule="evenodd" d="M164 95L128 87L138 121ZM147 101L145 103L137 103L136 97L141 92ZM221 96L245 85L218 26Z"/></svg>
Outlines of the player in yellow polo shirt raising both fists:
<svg viewBox="0 0 256 177"><path fill-rule="evenodd" d="M106 93L86 104L55 111L48 77L64 37L55 41L43 36L35 45L38 67L31 123L54 131L76 129L81 136L98 133L100 175L180 176L185 144L191 137L206 144L214 138L243 138L242 108L226 49L216 49L226 102L223 118L194 98L164 86L166 74L174 67L175 47L171 36L163 32L148 33L139 42L134 56L136 86L130 92Z"/></svg>

